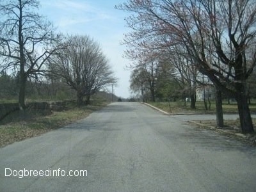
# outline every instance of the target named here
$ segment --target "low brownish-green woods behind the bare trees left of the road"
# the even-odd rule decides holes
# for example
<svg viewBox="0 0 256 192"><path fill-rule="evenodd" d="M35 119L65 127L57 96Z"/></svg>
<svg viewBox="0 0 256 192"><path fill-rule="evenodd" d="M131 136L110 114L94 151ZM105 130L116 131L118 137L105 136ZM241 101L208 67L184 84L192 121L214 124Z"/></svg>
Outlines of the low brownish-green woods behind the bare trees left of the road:
<svg viewBox="0 0 256 192"><path fill-rule="evenodd" d="M76 92L61 79L28 79L26 83L26 100L54 101L74 100ZM0 72L0 99L1 102L15 102L19 97L19 76Z"/></svg>

